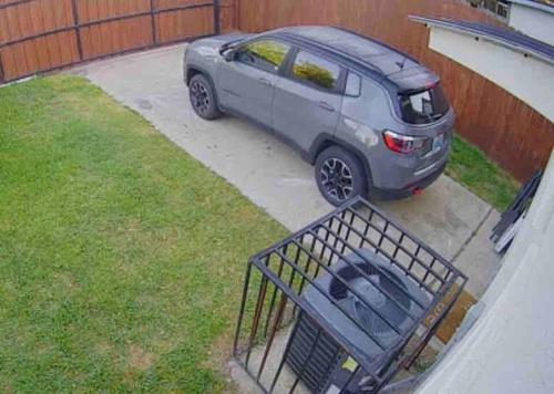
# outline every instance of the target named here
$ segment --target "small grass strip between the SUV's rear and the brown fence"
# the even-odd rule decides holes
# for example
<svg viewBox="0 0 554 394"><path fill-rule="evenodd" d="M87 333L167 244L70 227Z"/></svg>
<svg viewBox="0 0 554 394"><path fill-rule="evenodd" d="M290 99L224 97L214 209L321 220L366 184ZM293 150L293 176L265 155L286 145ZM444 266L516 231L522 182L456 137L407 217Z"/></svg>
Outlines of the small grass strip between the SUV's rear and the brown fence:
<svg viewBox="0 0 554 394"><path fill-rule="evenodd" d="M520 188L512 176L459 136L454 138L445 173L500 211L507 208Z"/></svg>

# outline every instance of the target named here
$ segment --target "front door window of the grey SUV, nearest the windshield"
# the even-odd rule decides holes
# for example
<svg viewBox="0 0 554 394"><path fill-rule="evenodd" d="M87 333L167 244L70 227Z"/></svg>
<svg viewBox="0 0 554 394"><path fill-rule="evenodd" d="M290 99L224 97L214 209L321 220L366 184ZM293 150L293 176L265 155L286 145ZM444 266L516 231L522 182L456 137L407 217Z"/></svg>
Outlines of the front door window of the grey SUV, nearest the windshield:
<svg viewBox="0 0 554 394"><path fill-rule="evenodd" d="M258 40L242 46L237 61L257 69L277 72L285 61L290 45L275 40Z"/></svg>

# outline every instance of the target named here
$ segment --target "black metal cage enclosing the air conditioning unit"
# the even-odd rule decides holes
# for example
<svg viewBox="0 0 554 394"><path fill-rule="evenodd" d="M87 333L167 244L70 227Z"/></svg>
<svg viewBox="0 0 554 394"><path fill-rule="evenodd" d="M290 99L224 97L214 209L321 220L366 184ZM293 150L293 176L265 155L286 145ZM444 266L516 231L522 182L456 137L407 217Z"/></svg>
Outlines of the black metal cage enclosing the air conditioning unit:
<svg viewBox="0 0 554 394"><path fill-rule="evenodd" d="M343 374L337 379L339 392L352 384L378 392L412 366L466 281L443 257L358 198L249 260L234 356L266 393L322 392L330 384L322 381L337 367ZM347 289L387 334L337 301L329 283ZM401 323L376 308L376 299L401 313ZM369 348L378 356L367 355Z"/></svg>

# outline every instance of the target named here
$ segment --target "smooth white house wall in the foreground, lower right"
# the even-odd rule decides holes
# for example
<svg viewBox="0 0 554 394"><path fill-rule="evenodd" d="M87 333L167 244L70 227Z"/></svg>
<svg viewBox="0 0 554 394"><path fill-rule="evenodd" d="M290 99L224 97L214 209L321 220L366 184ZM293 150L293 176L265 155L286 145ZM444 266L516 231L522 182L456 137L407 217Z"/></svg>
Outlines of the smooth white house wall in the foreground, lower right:
<svg viewBox="0 0 554 394"><path fill-rule="evenodd" d="M475 324L417 393L554 393L554 153L482 302Z"/></svg>

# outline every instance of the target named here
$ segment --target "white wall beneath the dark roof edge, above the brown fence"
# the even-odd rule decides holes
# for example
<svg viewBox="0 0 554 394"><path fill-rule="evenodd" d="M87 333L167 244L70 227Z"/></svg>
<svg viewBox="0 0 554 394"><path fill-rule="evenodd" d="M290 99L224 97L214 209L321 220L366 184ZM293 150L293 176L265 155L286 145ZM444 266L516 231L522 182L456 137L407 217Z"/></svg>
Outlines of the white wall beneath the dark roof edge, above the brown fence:
<svg viewBox="0 0 554 394"><path fill-rule="evenodd" d="M554 33L553 33L554 35ZM554 122L554 66L507 46L431 28L429 46L502 86ZM494 114L491 114L494 116Z"/></svg>

